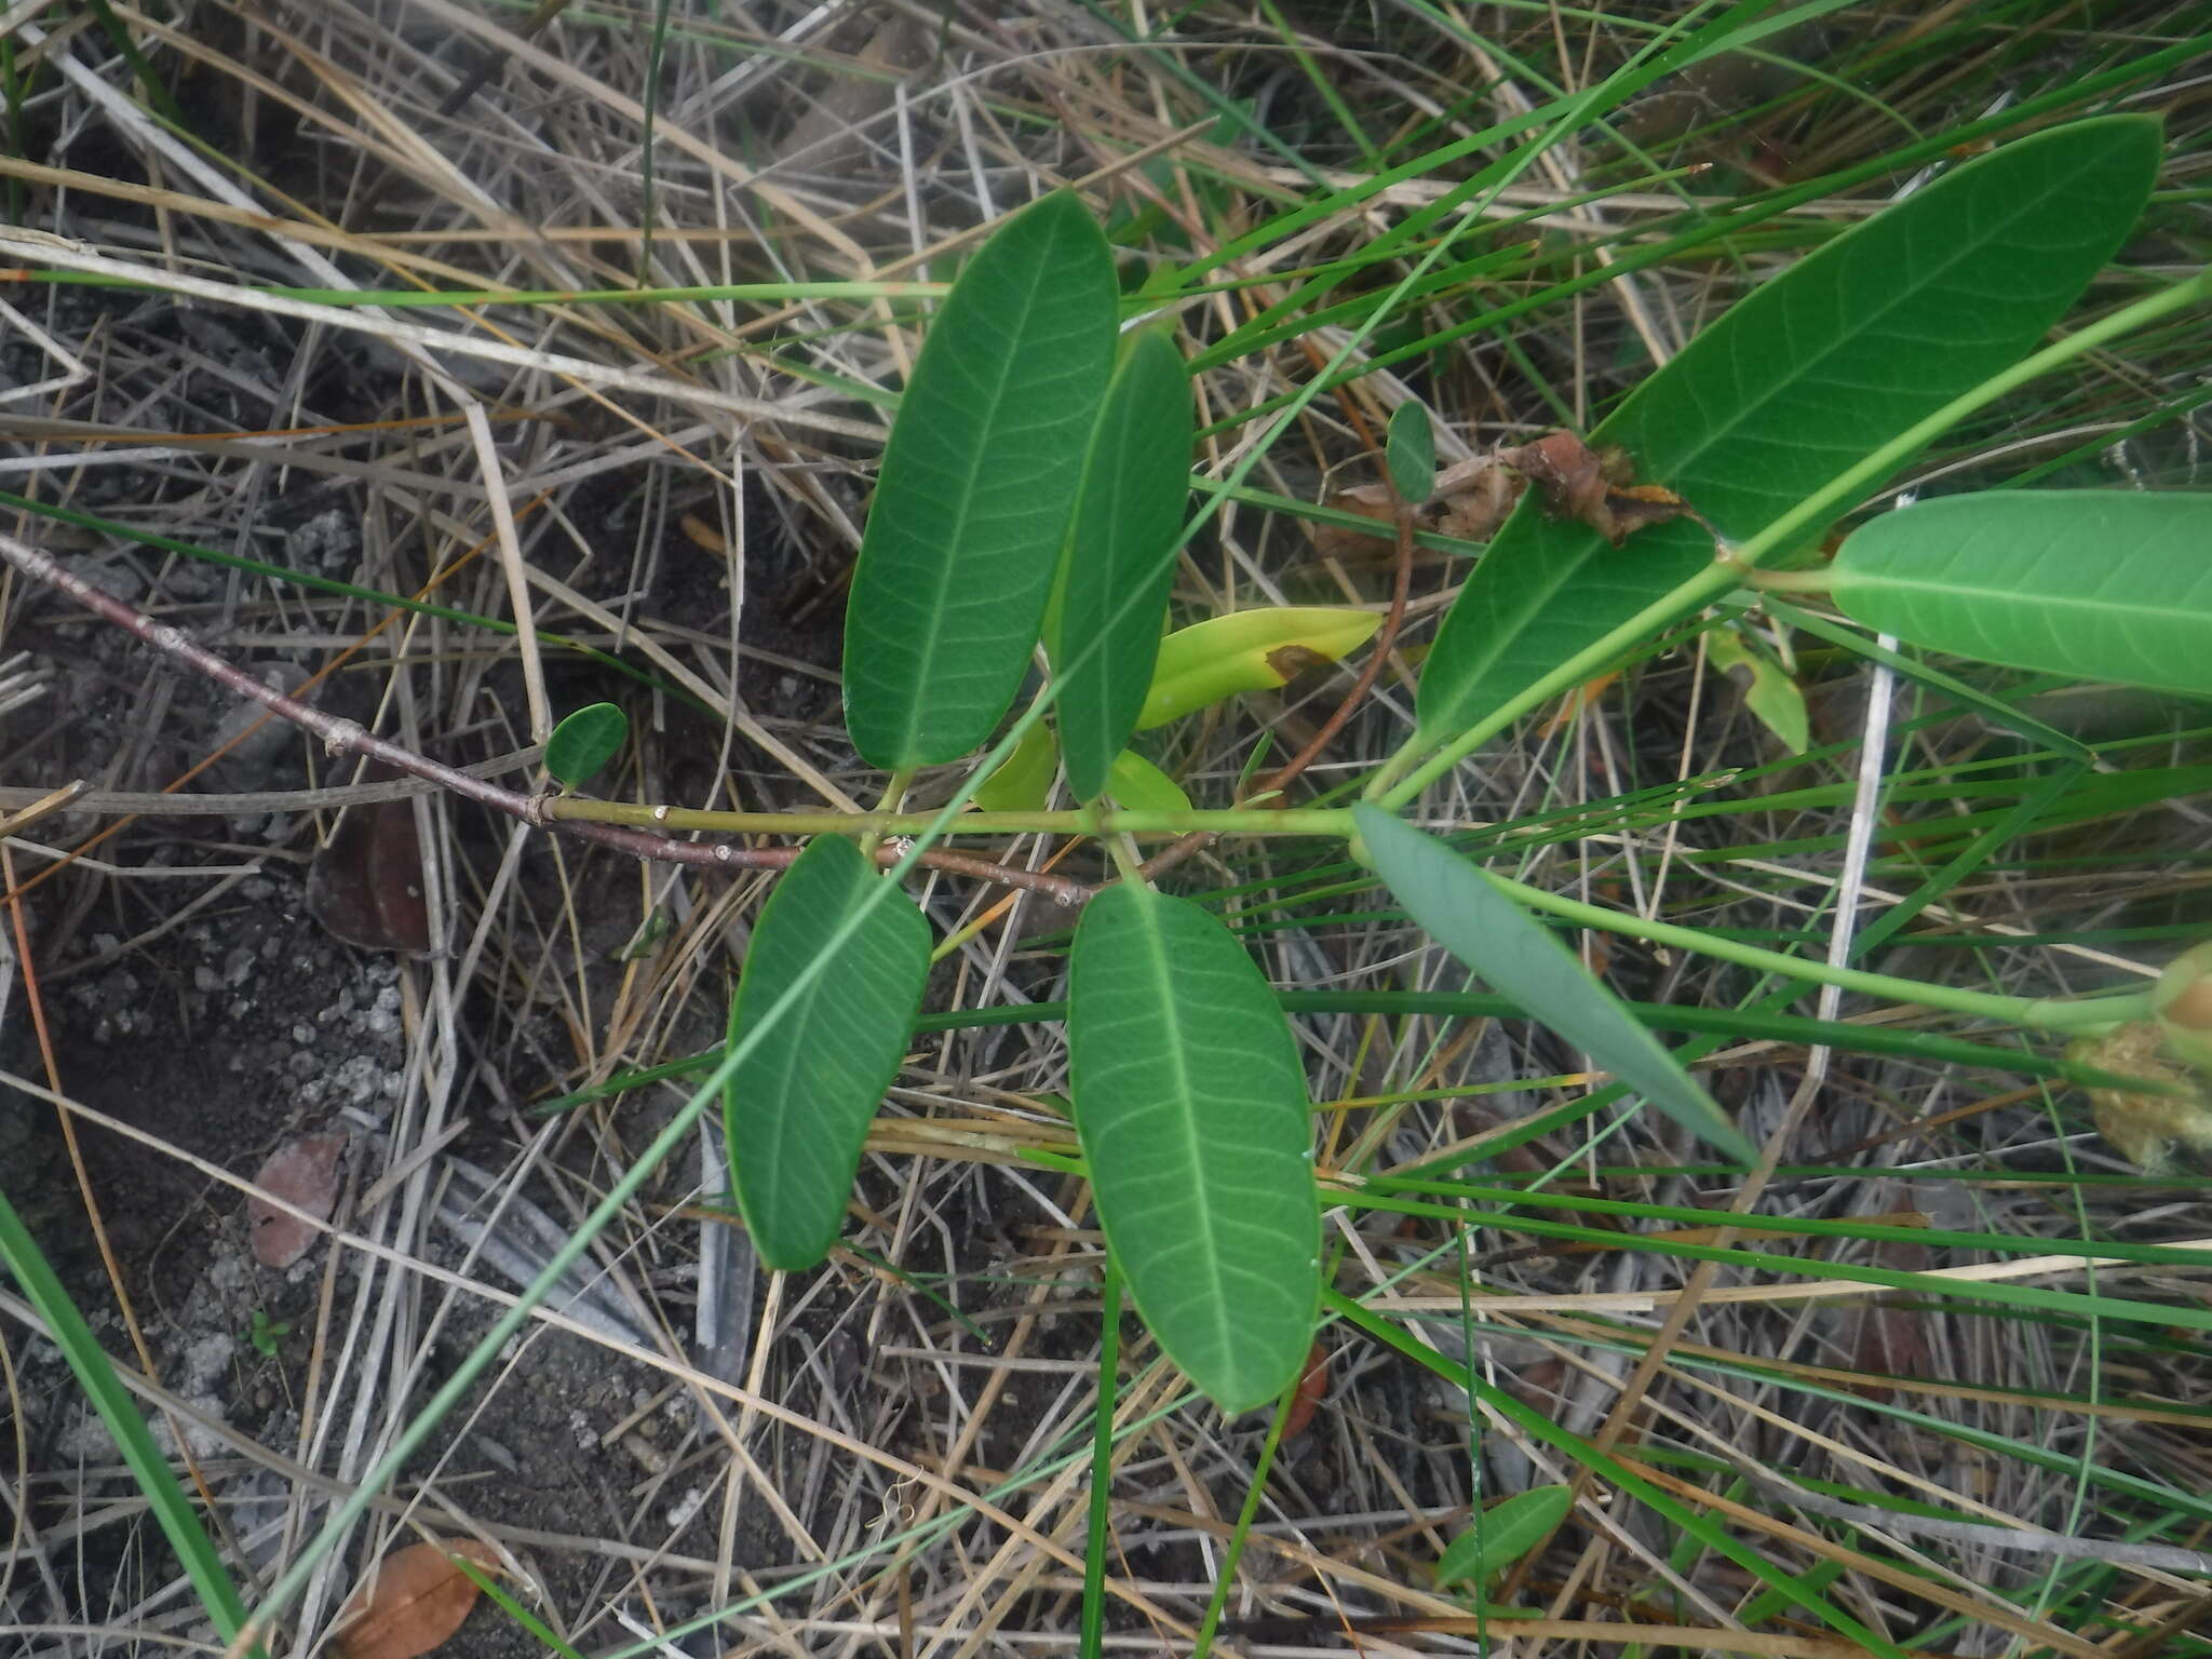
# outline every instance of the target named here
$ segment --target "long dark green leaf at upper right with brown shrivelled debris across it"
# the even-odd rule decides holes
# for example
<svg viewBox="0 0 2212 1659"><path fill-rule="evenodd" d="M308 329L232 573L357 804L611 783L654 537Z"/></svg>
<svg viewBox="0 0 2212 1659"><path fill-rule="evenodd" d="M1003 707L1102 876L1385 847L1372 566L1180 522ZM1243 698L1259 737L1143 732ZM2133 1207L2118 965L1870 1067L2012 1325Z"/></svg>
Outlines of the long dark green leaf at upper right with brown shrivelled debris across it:
<svg viewBox="0 0 2212 1659"><path fill-rule="evenodd" d="M2112 115L1969 161L1739 301L1590 442L1750 535L1922 416L2026 356L2150 195L2159 124ZM1436 741L1509 703L1712 562L1688 520L1610 546L1513 511L1420 675Z"/></svg>

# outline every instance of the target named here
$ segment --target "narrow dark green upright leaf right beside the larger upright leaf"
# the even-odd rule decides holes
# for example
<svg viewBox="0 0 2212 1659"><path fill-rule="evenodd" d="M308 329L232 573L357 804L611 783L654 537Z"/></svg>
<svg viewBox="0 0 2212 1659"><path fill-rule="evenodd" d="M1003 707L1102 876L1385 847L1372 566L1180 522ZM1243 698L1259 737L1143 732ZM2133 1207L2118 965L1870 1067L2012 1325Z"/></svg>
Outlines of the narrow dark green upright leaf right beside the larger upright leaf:
<svg viewBox="0 0 2212 1659"><path fill-rule="evenodd" d="M1130 341L1091 438L1046 635L1062 679L1053 714L1079 801L1106 787L1152 684L1194 431L1183 358L1146 330Z"/></svg>

